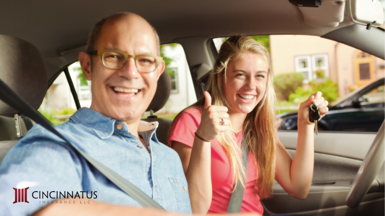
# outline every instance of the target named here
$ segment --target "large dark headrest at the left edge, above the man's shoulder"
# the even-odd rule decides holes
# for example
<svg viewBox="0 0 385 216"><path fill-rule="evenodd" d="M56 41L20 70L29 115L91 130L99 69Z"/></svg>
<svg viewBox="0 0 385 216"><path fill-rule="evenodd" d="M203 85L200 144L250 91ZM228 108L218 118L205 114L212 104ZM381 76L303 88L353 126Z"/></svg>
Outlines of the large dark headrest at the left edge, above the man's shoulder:
<svg viewBox="0 0 385 216"><path fill-rule="evenodd" d="M35 45L0 34L0 78L32 107L40 107L48 88L48 73ZM0 100L0 115L13 117L18 112Z"/></svg>

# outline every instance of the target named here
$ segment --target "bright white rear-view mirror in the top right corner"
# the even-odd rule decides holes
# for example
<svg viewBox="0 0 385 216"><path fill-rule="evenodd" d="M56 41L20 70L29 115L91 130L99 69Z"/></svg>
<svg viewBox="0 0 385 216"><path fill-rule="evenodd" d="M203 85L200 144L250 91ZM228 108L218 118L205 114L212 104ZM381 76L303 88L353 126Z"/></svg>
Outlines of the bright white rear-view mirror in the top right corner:
<svg viewBox="0 0 385 216"><path fill-rule="evenodd" d="M368 29L383 24L383 8L378 0L346 0L346 12L350 21L367 25Z"/></svg>

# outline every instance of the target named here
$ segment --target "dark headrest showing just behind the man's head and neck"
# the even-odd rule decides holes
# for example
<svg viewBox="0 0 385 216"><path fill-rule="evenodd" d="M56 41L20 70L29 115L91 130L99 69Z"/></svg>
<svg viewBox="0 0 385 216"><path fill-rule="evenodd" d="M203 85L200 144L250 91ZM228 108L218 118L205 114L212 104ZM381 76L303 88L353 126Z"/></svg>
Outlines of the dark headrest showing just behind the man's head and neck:
<svg viewBox="0 0 385 216"><path fill-rule="evenodd" d="M168 97L170 96L170 92L171 79L166 68L164 68L158 79L158 86L156 87L154 98L152 98L152 101L146 111L152 109L154 112L156 112L161 109L166 104Z"/></svg>

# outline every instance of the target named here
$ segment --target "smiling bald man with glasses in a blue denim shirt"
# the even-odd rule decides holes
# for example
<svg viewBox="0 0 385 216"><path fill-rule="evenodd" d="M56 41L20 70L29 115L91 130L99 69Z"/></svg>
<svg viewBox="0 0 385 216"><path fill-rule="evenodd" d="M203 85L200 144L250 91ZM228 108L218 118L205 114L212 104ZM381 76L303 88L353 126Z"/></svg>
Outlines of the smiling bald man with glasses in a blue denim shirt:
<svg viewBox="0 0 385 216"><path fill-rule="evenodd" d="M157 34L139 15L99 21L79 54L91 106L56 129L166 210L190 213L178 155L157 141L157 122L140 121L164 69L159 55ZM0 215L166 213L128 207L140 204L62 142L35 125L9 151L0 166ZM29 203L17 202L20 196Z"/></svg>

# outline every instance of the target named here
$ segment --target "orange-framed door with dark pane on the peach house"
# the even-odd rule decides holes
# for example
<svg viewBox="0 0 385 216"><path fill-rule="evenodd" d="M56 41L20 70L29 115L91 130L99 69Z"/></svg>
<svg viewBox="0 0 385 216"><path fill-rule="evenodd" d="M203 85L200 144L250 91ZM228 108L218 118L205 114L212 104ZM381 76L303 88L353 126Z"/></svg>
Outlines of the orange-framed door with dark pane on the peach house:
<svg viewBox="0 0 385 216"><path fill-rule="evenodd" d="M353 56L354 83L358 87L375 79L374 56L357 50Z"/></svg>

